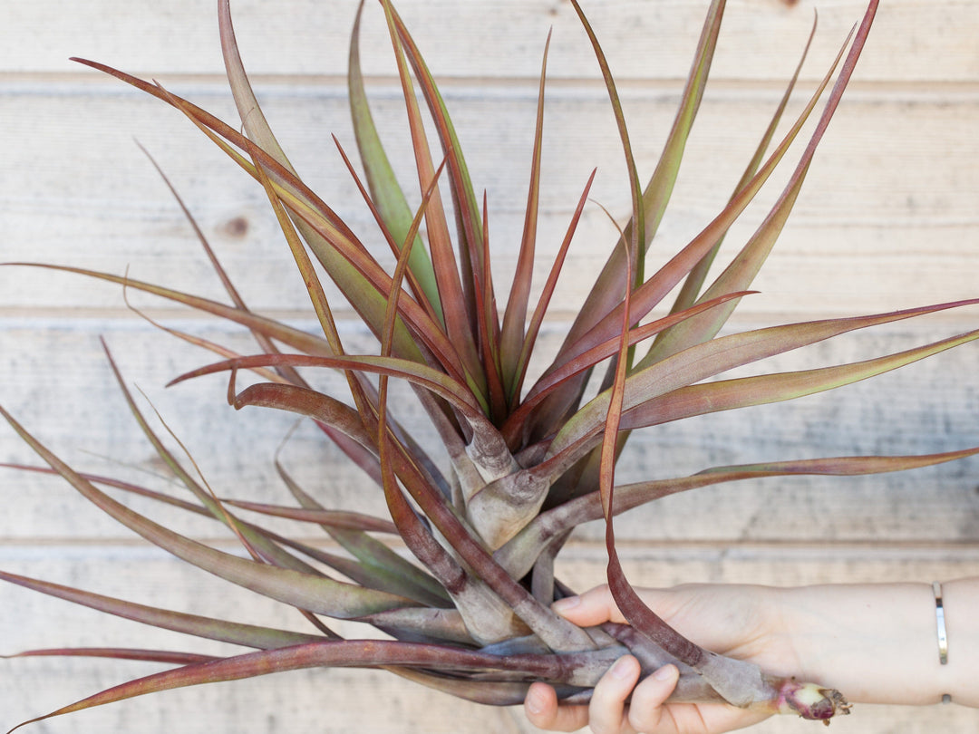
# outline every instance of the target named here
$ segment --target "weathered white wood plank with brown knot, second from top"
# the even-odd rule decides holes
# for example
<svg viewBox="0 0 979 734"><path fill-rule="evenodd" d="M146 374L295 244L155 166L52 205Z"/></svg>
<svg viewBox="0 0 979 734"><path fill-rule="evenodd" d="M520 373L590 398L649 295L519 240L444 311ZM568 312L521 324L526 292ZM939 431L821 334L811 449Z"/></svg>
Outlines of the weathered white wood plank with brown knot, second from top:
<svg viewBox="0 0 979 734"><path fill-rule="evenodd" d="M301 170L309 172L310 184L350 217L354 230L380 257L390 260L328 137L337 132L352 152L343 90L330 85L295 93L266 91L273 124ZM468 92L446 95L470 152L476 185L489 190L501 298L523 224L536 104L528 91L494 87L485 99ZM135 135L167 170L253 307L307 307L260 187L188 122L141 95L57 92L33 95L16 85L0 87L0 95L18 113L11 134L21 143L0 177L4 259L69 262L117 273L128 267L134 278L219 294L183 215L132 143ZM220 86L190 87L186 93L233 118ZM904 100L882 92L851 95L830 127L793 219L757 284L764 293L748 299L744 308L852 313L973 295L979 144L971 131L979 117L977 99L957 93L915 93ZM676 252L723 206L776 100L773 91L708 98L650 266ZM676 97L637 93L626 101L637 160L648 174ZM400 103L389 89L377 108L402 181L413 191L408 142L399 128ZM602 94L558 89L547 110L537 284L546 277L592 167L599 169L592 198L620 218L629 211L622 154ZM738 121L737 129L732 120ZM66 161L73 167L66 169ZM783 182L784 177L769 182L731 232L728 254L722 257L750 236ZM555 310L578 307L615 236L604 212L589 206ZM0 308L120 304L117 289L84 279L52 280L46 272L20 270L15 275L5 270L0 277Z"/></svg>

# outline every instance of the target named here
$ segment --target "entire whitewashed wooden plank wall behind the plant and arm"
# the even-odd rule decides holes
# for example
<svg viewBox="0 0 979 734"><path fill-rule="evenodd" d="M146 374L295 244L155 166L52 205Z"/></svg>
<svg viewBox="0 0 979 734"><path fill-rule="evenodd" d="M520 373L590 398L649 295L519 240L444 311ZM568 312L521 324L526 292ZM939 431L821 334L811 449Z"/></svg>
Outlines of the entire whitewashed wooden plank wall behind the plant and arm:
<svg viewBox="0 0 979 734"><path fill-rule="evenodd" d="M61 262L180 284L219 296L203 253L134 139L160 161L245 298L308 320L284 243L247 176L186 120L119 82L70 64L83 56L160 79L234 121L222 81L212 0L45 0L0 3L0 261ZM368 216L330 140L353 148L345 106L347 40L356 3L236 2L239 41L266 113L307 180L348 212ZM621 82L633 144L651 173L697 40L705 0L586 0ZM979 4L885 0L856 79L816 158L794 221L745 300L741 328L877 312L979 296ZM512 270L522 221L536 74L554 29L544 159L540 272L548 266L593 166L593 197L628 213L614 122L587 40L564 0L402 0L489 191L497 282ZM851 23L855 0L731 0L715 81L691 137L673 212L655 246L673 252L723 205L810 30L804 73L813 88ZM369 8L363 47L376 115L409 183L407 146L388 42ZM802 97L800 97L802 99ZM798 109L795 105L793 109ZM763 195L770 203L777 184ZM728 239L752 231L764 206ZM556 341L569 309L604 260L613 230L591 206L548 324ZM657 255L654 255L654 258ZM247 340L168 303L133 295L167 323L245 348ZM344 315L343 313L341 314ZM773 369L860 359L975 328L979 310L904 323L822 344ZM345 320L350 341L362 337ZM125 307L118 288L24 268L0 269L0 402L78 466L145 477L159 472L114 387L99 335L126 378L146 391L222 494L279 501L273 452L291 421L223 404L221 380L163 384L202 356ZM979 443L975 346L838 393L691 421L639 436L623 475L671 476L735 462L849 453L914 453ZM418 421L408 415L406 422ZM284 449L291 471L327 501L381 512L378 493L314 432ZM0 460L28 461L0 427ZM905 476L769 481L704 490L619 524L630 578L643 584L755 581L799 584L955 577L979 572L979 461ZM148 480L151 481L151 480ZM160 508L139 503L154 517ZM133 540L63 482L0 475L0 568L136 601L241 620L297 624L276 605L184 568ZM173 518L213 538L203 522ZM584 588L604 573L597 528L566 552L561 574ZM225 539L229 547L230 541ZM898 644L900 641L895 641ZM103 619L0 586L0 653L61 645L187 649L182 639ZM219 646L193 642L195 650ZM92 660L0 663L0 728L153 669ZM909 671L912 675L913 671ZM979 713L860 707L838 734L966 732ZM370 671L307 671L147 697L34 725L37 732L527 732L519 710L468 706ZM759 732L814 731L793 720Z"/></svg>

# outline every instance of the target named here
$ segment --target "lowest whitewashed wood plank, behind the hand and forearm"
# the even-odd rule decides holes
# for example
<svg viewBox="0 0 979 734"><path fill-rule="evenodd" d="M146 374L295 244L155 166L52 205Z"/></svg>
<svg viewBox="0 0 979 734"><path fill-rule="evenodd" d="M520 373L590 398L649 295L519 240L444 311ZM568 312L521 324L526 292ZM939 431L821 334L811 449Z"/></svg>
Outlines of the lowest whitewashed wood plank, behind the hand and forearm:
<svg viewBox="0 0 979 734"><path fill-rule="evenodd" d="M975 549L956 546L911 548L903 552L840 547L814 551L791 547L747 546L723 552L706 547L664 547L622 551L626 573L636 583L666 584L691 577L755 583L819 583L846 576L860 580L950 578L971 573L979 562ZM196 614L302 629L302 619L277 605L258 604L234 587L167 561L139 547L92 549L0 548L3 568L42 576L134 601L159 600ZM572 545L559 573L575 585L599 582L603 554L595 546ZM208 642L188 644L176 635L146 629L133 622L105 619L96 613L27 592L0 586L0 639L15 648L70 642L88 645L157 644L168 649L220 653L226 647ZM12 616L11 608L20 614ZM105 660L34 659L8 661L3 723L63 706L98 688L160 669L153 665L114 664ZM383 705L379 705L383 702ZM534 731L519 710L490 709L446 698L400 681L383 671L315 670L282 673L251 681L184 689L133 699L101 710L72 714L42 726L50 732L84 730L281 732L310 730L328 734L356 728L379 732L463 732L510 734ZM926 726L970 731L975 711L956 706L926 709L859 706L848 719L833 723L845 732L901 731L925 734ZM785 734L811 731L813 724L787 717L754 731ZM809 728L807 728L809 727Z"/></svg>

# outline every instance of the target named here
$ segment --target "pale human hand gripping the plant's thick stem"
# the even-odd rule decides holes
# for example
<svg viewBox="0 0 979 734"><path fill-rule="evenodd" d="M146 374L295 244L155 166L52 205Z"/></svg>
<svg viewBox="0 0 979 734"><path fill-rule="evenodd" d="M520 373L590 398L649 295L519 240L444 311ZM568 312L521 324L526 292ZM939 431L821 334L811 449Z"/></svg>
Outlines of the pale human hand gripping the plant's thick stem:
<svg viewBox="0 0 979 734"><path fill-rule="evenodd" d="M799 667L780 628L775 589L703 584L637 591L657 615L702 647L776 674L790 674ZM625 621L607 586L561 600L554 609L580 626ZM535 683L525 711L541 729L574 731L588 725L595 734L720 734L770 715L725 704L667 703L677 678L676 666L665 665L640 682L638 662L626 656L601 678L587 706L559 706L550 686Z"/></svg>

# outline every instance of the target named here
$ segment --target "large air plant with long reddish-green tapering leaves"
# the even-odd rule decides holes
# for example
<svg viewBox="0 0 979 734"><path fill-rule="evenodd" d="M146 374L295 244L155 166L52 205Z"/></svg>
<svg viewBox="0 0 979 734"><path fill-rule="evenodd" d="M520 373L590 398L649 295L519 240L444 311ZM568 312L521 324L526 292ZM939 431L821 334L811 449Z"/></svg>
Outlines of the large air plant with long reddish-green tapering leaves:
<svg viewBox="0 0 979 734"><path fill-rule="evenodd" d="M32 721L145 693L312 666L384 667L423 685L491 705L517 704L530 683L541 680L554 685L565 701L581 702L609 665L626 653L637 656L647 671L676 663L681 677L675 700L725 701L736 707L823 720L848 711L838 691L774 677L756 665L712 653L659 619L641 603L623 573L613 518L658 498L720 482L892 472L951 461L979 449L722 466L691 476L618 485L615 466L630 433L638 429L831 390L979 338L976 330L860 362L723 377L737 367L855 330L979 302L940 303L719 336L741 298L751 293L753 278L796 201L816 147L853 74L877 2L871 0L832 68L798 117L786 123L787 132L778 140L775 132L793 78L757 152L732 187L728 204L652 273L645 271L645 255L670 200L704 92L724 3L714 0L709 6L676 120L645 187L633 161L616 83L582 9L575 0L572 4L590 39L618 123L629 172L631 216L619 229L618 241L608 243L607 262L564 343L548 364L534 370L536 338L591 185L590 179L583 182L566 236L535 300L532 273L537 256L537 207L544 185L541 140L546 47L526 221L505 306L499 305L503 301L497 298L492 279L486 200L481 201L470 180L433 74L389 0L381 0L380 5L403 90L418 204L409 205L410 197L396 181L371 116L359 62L361 4L350 43L349 93L362 174L340 141L336 143L340 160L349 168L351 191L362 197L375 218L376 226L365 232L354 232L334 205L317 197L277 143L239 57L228 0L218 3L220 39L243 131L157 83L78 60L186 115L255 179L267 195L302 274L320 333L306 333L250 310L196 225L228 302L195 297L126 275L33 266L58 268L146 292L249 330L258 348L257 353L245 355L163 327L220 357L173 382L228 373L227 396L235 408L276 408L307 417L363 470L365 482L377 485L390 517L324 507L314 492L295 482L282 466L277 469L295 499L293 506L219 499L151 428L111 356L110 365L139 428L193 499L76 471L0 408L48 465L21 469L60 475L83 497L143 538L200 569L299 610L309 623L307 631L297 632L210 619L0 572L6 581L106 614L245 650L220 658L129 649L29 651L23 654L98 654L175 665ZM824 95L815 129L783 192L754 234L712 280L709 270L725 233L779 167ZM194 223L189 210L184 207L184 211ZM394 254L395 265L386 269L381 253L388 251ZM332 315L337 304L328 302L317 275L320 269L373 335L377 348L372 353L350 353L345 346ZM665 302L671 294L677 295ZM342 374L347 393L317 390L314 376L322 370ZM239 390L236 379L242 372L252 373L256 382ZM532 374L539 376L531 380ZM441 439L443 456L430 455L399 424L389 400L393 379L413 390ZM208 516L233 533L243 552L228 553L163 527L127 507L109 490L141 494ZM347 555L325 552L243 520L239 517L242 509L318 525ZM555 578L554 559L577 526L601 519L607 528L608 581L630 624L584 629L550 609L555 599L572 593ZM385 542L392 536L399 537L412 560ZM331 629L329 619L365 622L385 638L344 638Z"/></svg>

